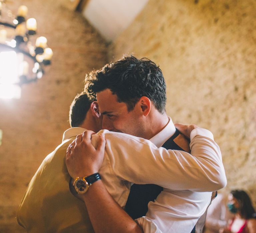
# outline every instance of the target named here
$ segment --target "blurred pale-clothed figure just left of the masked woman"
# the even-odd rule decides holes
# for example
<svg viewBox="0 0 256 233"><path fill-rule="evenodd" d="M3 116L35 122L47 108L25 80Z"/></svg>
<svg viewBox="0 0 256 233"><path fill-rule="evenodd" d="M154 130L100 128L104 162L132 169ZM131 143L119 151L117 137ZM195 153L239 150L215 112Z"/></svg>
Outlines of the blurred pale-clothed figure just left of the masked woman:
<svg viewBox="0 0 256 233"><path fill-rule="evenodd" d="M233 217L227 207L228 193L218 193L207 210L204 233L218 233Z"/></svg>

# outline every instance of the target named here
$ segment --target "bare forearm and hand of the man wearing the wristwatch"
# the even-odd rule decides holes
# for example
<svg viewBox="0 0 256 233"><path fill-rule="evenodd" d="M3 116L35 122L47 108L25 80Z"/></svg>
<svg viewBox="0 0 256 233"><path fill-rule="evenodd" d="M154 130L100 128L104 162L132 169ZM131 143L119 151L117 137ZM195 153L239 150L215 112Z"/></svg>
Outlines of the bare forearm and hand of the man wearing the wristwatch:
<svg viewBox="0 0 256 233"><path fill-rule="evenodd" d="M81 153L82 140L90 142L92 131L85 131L76 138L76 147L69 146L66 155L68 172L73 179L84 177L98 172L103 157L94 156L104 154L105 138L98 137L95 149L92 144L86 148L88 154ZM79 145L79 146L77 146ZM85 159L86 158L86 159ZM93 164L93 166L91 166ZM85 202L95 233L143 233L140 226L116 203L101 180L94 182L84 194L78 194L79 199Z"/></svg>

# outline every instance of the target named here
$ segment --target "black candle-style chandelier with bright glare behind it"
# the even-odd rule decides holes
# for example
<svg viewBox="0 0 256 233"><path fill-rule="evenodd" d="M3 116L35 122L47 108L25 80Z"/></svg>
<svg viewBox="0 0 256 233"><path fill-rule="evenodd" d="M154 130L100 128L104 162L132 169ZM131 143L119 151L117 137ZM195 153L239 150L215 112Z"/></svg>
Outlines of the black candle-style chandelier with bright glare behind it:
<svg viewBox="0 0 256 233"><path fill-rule="evenodd" d="M22 5L15 17L6 0L0 0L0 98L20 98L20 87L41 79L51 64L53 52L45 37L35 40L37 23L26 20L27 12Z"/></svg>

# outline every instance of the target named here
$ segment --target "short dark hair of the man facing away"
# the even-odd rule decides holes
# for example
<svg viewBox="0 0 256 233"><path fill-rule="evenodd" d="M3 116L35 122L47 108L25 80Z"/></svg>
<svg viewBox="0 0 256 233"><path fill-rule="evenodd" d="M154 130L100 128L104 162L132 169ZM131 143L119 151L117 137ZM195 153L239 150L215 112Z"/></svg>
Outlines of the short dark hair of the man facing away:
<svg viewBox="0 0 256 233"><path fill-rule="evenodd" d="M93 101L96 101L96 99L93 96L89 97L85 92L77 94L69 110L69 123L71 127L78 127L83 123Z"/></svg>

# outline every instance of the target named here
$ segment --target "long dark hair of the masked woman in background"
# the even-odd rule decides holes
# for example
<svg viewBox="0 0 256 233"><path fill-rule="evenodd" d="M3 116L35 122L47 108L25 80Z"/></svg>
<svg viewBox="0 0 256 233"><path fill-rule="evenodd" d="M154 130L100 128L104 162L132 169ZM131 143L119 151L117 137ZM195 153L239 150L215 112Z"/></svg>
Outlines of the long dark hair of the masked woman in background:
<svg viewBox="0 0 256 233"><path fill-rule="evenodd" d="M250 219L255 217L255 209L252 206L249 195L244 190L235 189L230 192L240 204L242 218Z"/></svg>

